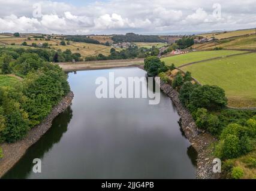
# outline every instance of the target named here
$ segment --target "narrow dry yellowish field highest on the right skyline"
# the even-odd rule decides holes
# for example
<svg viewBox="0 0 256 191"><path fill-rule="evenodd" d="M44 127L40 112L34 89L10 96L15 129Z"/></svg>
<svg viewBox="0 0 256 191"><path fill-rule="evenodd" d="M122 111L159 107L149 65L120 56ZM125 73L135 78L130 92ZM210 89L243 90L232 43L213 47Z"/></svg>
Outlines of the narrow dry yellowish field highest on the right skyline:
<svg viewBox="0 0 256 191"><path fill-rule="evenodd" d="M205 33L198 36L203 36L204 38L212 38L214 35L216 39L224 39L230 38L232 36L242 36L242 35L249 35L254 34L255 29L245 29L245 30L234 30L234 31L227 31L227 32L217 32L217 33Z"/></svg>

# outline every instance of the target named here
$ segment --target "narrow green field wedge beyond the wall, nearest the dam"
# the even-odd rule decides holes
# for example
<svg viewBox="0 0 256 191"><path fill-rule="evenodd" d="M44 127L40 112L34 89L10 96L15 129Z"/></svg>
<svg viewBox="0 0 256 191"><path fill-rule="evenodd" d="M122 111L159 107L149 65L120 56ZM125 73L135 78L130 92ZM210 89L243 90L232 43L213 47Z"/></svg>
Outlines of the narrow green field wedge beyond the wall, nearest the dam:
<svg viewBox="0 0 256 191"><path fill-rule="evenodd" d="M165 64L170 65L174 64L176 67L181 66L182 64L191 63L194 61L206 60L209 58L228 56L232 54L243 53L243 51L233 51L233 50L215 50L215 51L198 51L187 54L180 54L171 57L162 58L161 61L164 61Z"/></svg>

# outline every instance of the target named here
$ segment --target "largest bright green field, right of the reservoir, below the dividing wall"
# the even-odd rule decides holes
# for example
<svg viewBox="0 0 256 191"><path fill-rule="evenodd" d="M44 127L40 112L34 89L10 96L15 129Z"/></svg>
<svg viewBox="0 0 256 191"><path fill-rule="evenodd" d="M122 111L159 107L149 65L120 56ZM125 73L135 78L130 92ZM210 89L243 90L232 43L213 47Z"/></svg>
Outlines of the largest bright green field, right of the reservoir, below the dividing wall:
<svg viewBox="0 0 256 191"><path fill-rule="evenodd" d="M256 54L244 54L181 67L192 72L201 84L225 90L228 106L256 106Z"/></svg>

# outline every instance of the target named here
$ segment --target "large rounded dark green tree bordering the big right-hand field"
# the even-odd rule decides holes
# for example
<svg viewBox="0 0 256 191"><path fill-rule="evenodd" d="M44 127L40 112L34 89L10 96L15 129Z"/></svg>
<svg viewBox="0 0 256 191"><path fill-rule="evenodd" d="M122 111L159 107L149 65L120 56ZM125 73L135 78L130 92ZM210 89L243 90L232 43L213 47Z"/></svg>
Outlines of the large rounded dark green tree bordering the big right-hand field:
<svg viewBox="0 0 256 191"><path fill-rule="evenodd" d="M195 88L189 97L190 108L221 109L227 105L225 91L217 86L203 85Z"/></svg>

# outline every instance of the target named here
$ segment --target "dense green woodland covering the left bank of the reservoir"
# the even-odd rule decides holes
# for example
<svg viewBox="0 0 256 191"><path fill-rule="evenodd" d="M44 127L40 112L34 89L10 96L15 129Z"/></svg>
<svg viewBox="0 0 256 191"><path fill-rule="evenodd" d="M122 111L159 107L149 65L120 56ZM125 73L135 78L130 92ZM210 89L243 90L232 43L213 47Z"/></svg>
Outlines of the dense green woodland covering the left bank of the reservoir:
<svg viewBox="0 0 256 191"><path fill-rule="evenodd" d="M0 141L23 138L70 91L67 75L48 62L51 55L44 50L0 50L0 72L23 78L0 87Z"/></svg>

